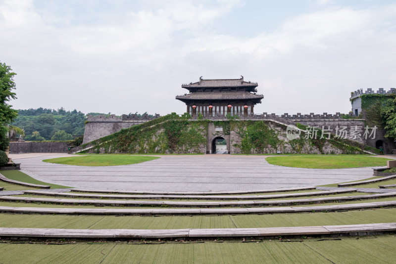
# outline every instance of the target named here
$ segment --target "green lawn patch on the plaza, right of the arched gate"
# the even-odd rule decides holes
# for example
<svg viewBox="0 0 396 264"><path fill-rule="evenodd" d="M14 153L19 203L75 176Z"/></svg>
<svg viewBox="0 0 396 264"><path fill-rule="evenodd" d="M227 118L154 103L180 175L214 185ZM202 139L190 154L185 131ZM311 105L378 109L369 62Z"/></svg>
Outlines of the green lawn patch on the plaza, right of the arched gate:
<svg viewBox="0 0 396 264"><path fill-rule="evenodd" d="M359 167L386 166L387 161L391 159L378 158L376 156L346 155L346 156L329 156L329 155L312 155L312 156L284 156L268 157L269 164L307 168L307 169L343 169Z"/></svg>

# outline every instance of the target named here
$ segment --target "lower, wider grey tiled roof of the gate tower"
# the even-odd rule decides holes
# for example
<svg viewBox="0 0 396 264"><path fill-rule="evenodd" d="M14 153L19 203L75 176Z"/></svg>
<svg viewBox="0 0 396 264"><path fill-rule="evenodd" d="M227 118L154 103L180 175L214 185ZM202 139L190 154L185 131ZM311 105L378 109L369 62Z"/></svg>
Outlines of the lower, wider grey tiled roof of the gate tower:
<svg viewBox="0 0 396 264"><path fill-rule="evenodd" d="M263 95L253 94L248 91L222 91L222 92L193 92L186 95L178 95L176 99L184 100L241 100L262 99Z"/></svg>

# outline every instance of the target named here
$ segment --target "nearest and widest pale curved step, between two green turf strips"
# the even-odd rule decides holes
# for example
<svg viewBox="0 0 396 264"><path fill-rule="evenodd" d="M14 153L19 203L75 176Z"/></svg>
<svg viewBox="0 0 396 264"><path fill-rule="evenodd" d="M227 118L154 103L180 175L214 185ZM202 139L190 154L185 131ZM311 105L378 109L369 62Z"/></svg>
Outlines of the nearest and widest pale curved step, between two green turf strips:
<svg viewBox="0 0 396 264"><path fill-rule="evenodd" d="M131 238L180 238L208 237L278 237L278 236L364 236L395 232L396 223L353 225L324 225L269 228L208 228L208 229L56 229L56 228L6 228L0 227L0 236L23 238L83 238L83 239L131 239Z"/></svg>

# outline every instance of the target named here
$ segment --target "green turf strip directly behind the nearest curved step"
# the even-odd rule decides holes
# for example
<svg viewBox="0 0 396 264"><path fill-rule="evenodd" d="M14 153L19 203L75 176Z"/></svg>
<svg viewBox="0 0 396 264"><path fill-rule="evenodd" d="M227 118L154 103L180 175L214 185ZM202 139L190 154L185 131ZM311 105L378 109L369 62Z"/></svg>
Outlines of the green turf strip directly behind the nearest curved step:
<svg viewBox="0 0 396 264"><path fill-rule="evenodd" d="M87 216L0 214L2 227L68 229L257 228L395 222L396 208L235 216Z"/></svg>

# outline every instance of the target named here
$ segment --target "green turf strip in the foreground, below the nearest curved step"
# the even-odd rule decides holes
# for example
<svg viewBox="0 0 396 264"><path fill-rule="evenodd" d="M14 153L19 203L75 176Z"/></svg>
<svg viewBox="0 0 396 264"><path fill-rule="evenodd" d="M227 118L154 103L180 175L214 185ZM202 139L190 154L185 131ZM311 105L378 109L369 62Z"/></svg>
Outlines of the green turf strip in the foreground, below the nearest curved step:
<svg viewBox="0 0 396 264"><path fill-rule="evenodd" d="M0 244L2 263L395 263L396 236L293 239L284 243L224 241L65 245ZM248 261L247 261L248 260Z"/></svg>

